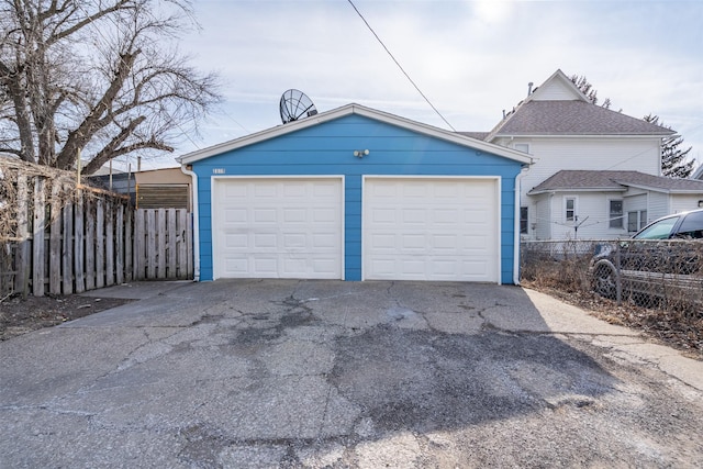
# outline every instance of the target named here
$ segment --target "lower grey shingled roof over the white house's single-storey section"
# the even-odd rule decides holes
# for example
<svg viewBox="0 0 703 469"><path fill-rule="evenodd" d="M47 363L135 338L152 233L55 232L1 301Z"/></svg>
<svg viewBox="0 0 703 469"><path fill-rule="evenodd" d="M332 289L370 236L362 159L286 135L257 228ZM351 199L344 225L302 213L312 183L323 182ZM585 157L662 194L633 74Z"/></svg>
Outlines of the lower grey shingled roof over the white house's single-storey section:
<svg viewBox="0 0 703 469"><path fill-rule="evenodd" d="M626 191L628 187L666 193L703 193L703 181L646 175L639 171L562 170L529 192Z"/></svg>

